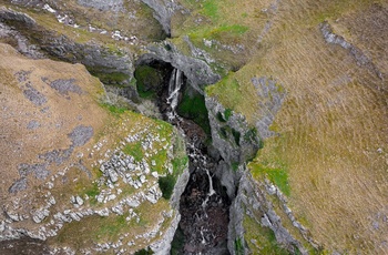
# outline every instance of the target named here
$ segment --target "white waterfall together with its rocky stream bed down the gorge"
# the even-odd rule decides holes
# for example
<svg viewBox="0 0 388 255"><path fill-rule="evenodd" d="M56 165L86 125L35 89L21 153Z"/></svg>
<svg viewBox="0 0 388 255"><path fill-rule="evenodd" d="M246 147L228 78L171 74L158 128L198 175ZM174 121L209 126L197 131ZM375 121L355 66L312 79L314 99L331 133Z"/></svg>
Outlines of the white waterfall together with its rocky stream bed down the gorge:
<svg viewBox="0 0 388 255"><path fill-rule="evenodd" d="M197 142L195 130L200 128L175 111L183 83L182 71L174 69L169 81L166 118L185 135L191 172L180 206L180 230L185 241L175 254L228 254L226 242L229 201L219 194L219 181L212 177L216 163L204 153L204 145Z"/></svg>

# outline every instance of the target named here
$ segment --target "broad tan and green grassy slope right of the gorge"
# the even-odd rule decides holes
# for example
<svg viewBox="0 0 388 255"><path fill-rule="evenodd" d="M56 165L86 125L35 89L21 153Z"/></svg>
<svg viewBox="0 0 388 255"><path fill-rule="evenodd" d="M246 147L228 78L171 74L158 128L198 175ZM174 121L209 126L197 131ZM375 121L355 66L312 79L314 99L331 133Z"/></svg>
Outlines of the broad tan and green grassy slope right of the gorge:
<svg viewBox="0 0 388 255"><path fill-rule="evenodd" d="M248 64L207 93L254 124L261 111L251 78L272 76L284 86L286 101L272 126L280 135L265 141L249 167L257 178L263 177L259 165L286 171L292 210L330 251L387 248L381 246L387 228L379 216L387 213L387 84L357 65L347 50L327 44L318 28L327 19L336 31L347 31L341 34L387 74L382 58L387 55L387 32L381 24L379 31L374 30L371 20L377 12L369 9L372 2L387 10L382 1L289 0L270 13L263 11L268 2L243 1L233 17L218 18L234 23L246 12L246 37L257 39L257 44L248 45L254 49ZM251 6L251 12L245 6ZM259 40L261 33L252 31L257 27L264 31L266 20L272 27Z"/></svg>

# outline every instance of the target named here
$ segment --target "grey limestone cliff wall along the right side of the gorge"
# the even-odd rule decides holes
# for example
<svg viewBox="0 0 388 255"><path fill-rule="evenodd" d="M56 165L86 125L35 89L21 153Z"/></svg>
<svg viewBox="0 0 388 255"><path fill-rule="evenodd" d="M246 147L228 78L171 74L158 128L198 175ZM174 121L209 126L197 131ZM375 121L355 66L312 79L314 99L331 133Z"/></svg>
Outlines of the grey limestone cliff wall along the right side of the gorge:
<svg viewBox="0 0 388 255"><path fill-rule="evenodd" d="M261 137L274 135L268 128L284 99L284 93L276 90L275 82L268 83L265 78L253 78L252 82L257 90L257 96L262 98L259 111L265 113L255 128L249 128L244 115L226 109L216 98L205 98L213 147L222 157L216 174L227 188L228 195L234 198L229 208L228 249L232 254L242 254L242 251L255 254L257 251L252 245L258 245L259 242L255 233L263 228L270 230L284 249L308 254L312 247L318 246L308 236L307 230L295 220L287 207L286 197L268 180L255 180L246 165L261 149Z"/></svg>

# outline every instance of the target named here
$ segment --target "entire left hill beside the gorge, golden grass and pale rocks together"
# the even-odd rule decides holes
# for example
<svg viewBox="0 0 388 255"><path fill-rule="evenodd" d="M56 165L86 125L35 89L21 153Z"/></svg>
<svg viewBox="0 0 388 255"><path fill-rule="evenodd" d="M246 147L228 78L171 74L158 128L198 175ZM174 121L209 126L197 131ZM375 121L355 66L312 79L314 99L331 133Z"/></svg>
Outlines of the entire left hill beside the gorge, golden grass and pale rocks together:
<svg viewBox="0 0 388 255"><path fill-rule="evenodd" d="M54 241L53 254L133 253L146 246L167 253L188 181L188 166L172 163L185 156L178 132L102 105L102 84L81 64L27 59L6 44L0 54L1 118L12 120L1 122L10 135L0 146L8 170L0 190L0 241ZM176 178L171 200L159 184L167 174ZM83 227L72 227L75 222ZM120 242L104 227L114 227ZM75 247L71 238L81 233L92 242Z"/></svg>

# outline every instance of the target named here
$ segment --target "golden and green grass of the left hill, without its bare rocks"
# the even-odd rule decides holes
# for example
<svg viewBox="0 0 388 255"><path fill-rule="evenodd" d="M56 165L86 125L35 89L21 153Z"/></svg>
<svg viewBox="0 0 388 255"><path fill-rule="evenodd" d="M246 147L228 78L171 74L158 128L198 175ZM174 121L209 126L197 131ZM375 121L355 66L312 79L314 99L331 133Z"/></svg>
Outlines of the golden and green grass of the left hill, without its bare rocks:
<svg viewBox="0 0 388 255"><path fill-rule="evenodd" d="M114 149L121 146L121 150L132 155L136 161L145 160L151 171L157 172L161 176L170 171L176 178L187 164L184 143L176 137L172 125L159 120L152 120L137 113L119 109L112 105L101 103L103 88L98 79L91 76L81 64L69 64L54 62L51 60L30 60L21 57L10 45L0 43L0 101L2 102L0 129L2 132L0 144L0 161L3 164L1 174L3 182L0 188L0 197L3 206L12 206L12 201L20 201L21 213L33 213L34 210L45 204L47 194L55 198L55 205L50 207L50 216L42 222L45 224L51 221L53 214L74 210L70 203L72 195L80 195L84 200L83 208L102 210L112 207L118 200L131 197L139 192L146 193L147 190L130 186L120 180L122 192L118 194L115 201L98 203L95 195L102 190L106 190L105 184L98 185L96 182L102 177L99 170L99 161L106 161L106 155L111 155ZM27 72L27 80L18 81L16 73ZM42 79L54 81L58 79L74 79L74 83L82 89L81 94L69 92L62 95L45 84ZM44 80L43 79L43 80ZM37 106L23 96L22 90L25 83L37 89L45 96L47 103ZM44 110L45 109L45 110ZM44 111L43 111L44 110ZM38 121L39 126L35 130L28 129L30 121ZM20 177L18 165L21 163L34 164L41 163L39 154L52 150L67 149L70 145L68 134L76 125L92 126L93 137L83 146L75 147L69 160L62 164L49 164L51 171L49 178L38 180L33 174L28 176L28 190L10 195L8 188ZM144 132L146 128L146 132ZM139 135L139 141L125 142L127 135ZM150 135L159 137L153 142L153 150L145 151L141 143L150 141ZM125 142L125 145L122 145ZM95 144L101 144L98 149ZM139 146L140 145L140 146ZM172 147L172 150L171 150ZM18 152L18 153L16 153ZM145 154L150 154L145 156ZM154 164L153 164L154 162ZM78 163L90 171L90 176L81 169ZM62 175L58 174L65 172ZM55 175L55 177L53 177ZM59 177L61 176L61 177ZM146 176L147 185L157 184L157 178L151 175ZM47 182L52 182L54 187L49 188ZM85 195L90 198L85 200ZM154 230L157 224L161 225L161 232L170 226L172 217L163 216L163 212L170 212L169 200L161 198L156 204L150 202L142 203L134 212L140 215L140 221L132 218L125 221L129 216L127 208L122 216L111 212L109 217L96 215L82 218L80 222L64 224L59 235L49 239L52 245L65 245L80 252L81 248L90 247L95 243L116 242L122 237L123 243L136 239L136 235L142 235ZM4 220L4 215L1 216ZM162 223L163 222L163 223ZM31 216L27 221L13 223L13 227L35 230L41 226L32 222ZM50 228L50 227L47 227ZM127 232L127 230L131 230ZM124 236L124 234L126 236ZM145 241L136 239L136 244L129 247L129 252L134 252L146 247L150 242L160 236Z"/></svg>

